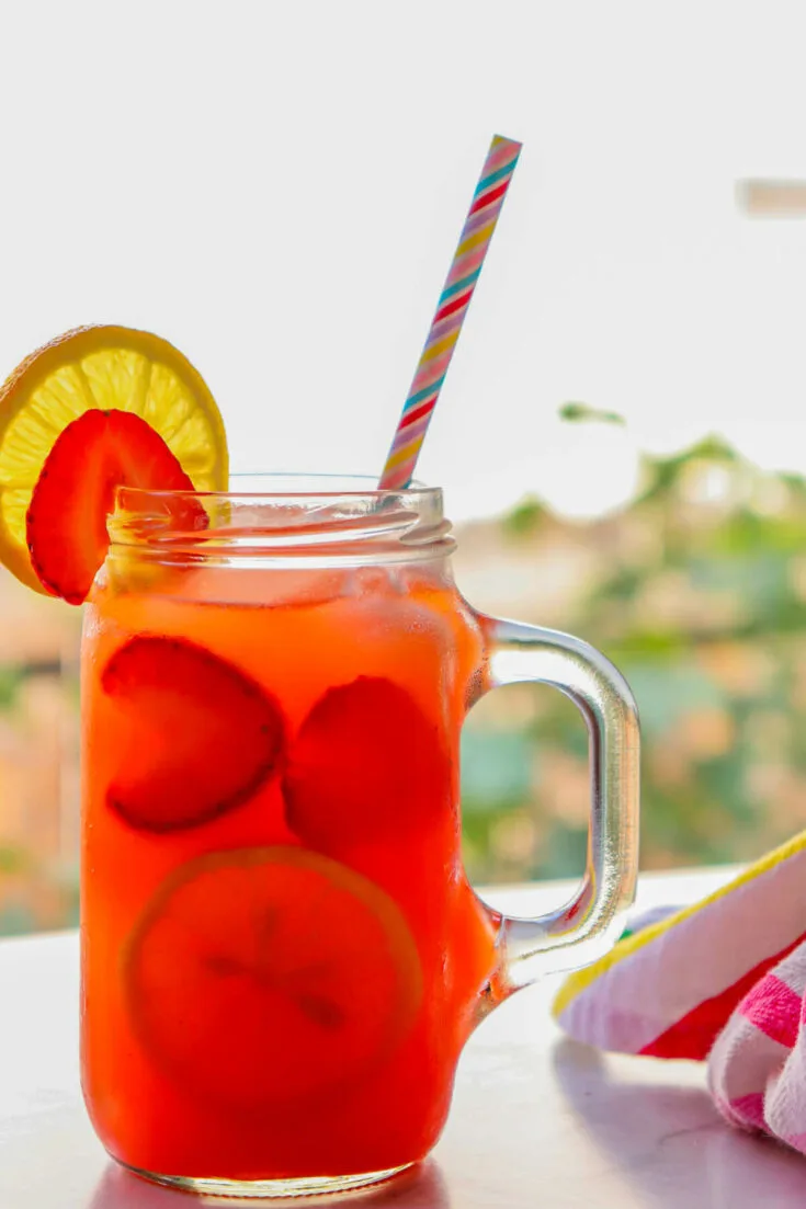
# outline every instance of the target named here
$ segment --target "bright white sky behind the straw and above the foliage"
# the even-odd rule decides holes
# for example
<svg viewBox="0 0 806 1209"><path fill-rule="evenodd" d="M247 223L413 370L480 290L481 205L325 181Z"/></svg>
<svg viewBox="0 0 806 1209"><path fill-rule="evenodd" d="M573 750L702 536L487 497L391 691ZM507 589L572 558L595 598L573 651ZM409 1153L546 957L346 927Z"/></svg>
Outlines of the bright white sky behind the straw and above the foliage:
<svg viewBox="0 0 806 1209"><path fill-rule="evenodd" d="M139 0L0 13L0 369L91 320L198 365L241 469L380 472L490 135L524 154L420 462L589 510L710 429L806 470L806 8ZM555 421L614 409L628 435Z"/></svg>

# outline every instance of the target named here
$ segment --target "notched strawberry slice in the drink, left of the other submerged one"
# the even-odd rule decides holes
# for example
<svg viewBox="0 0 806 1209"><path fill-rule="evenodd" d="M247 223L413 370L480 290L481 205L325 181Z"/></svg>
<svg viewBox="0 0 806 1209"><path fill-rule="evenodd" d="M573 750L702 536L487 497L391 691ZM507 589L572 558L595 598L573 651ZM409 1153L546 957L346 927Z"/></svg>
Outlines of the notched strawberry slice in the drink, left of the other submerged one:
<svg viewBox="0 0 806 1209"><path fill-rule="evenodd" d="M280 770L284 722L249 676L184 638L140 635L100 676L120 763L109 805L132 827L192 827Z"/></svg>

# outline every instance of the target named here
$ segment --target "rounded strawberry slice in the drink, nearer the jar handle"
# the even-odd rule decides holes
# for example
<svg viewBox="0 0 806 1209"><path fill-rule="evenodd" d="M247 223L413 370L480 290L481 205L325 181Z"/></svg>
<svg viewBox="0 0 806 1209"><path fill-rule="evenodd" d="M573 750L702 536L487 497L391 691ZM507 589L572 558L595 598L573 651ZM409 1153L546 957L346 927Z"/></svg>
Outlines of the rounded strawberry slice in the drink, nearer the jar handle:
<svg viewBox="0 0 806 1209"><path fill-rule="evenodd" d="M437 715L405 689L359 676L328 689L292 746L286 816L304 843L344 851L422 827L451 792Z"/></svg>

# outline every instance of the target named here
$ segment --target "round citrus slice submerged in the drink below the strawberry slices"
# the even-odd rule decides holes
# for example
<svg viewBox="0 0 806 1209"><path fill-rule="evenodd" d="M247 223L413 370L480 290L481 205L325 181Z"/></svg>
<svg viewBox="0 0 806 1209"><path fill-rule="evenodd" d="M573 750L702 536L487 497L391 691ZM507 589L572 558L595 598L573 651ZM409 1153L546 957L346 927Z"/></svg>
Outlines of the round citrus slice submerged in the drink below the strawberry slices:
<svg viewBox="0 0 806 1209"><path fill-rule="evenodd" d="M395 902L297 848L213 852L177 869L136 927L125 979L146 1053L202 1104L229 1110L341 1094L402 1041L422 999Z"/></svg>

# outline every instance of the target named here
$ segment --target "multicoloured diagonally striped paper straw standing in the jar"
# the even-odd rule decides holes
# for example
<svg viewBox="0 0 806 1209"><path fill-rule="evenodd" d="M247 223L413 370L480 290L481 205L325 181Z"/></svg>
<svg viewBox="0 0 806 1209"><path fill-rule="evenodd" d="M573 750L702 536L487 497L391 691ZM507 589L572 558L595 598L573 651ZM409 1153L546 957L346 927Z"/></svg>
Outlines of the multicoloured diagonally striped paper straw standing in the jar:
<svg viewBox="0 0 806 1209"><path fill-rule="evenodd" d="M520 143L501 138L500 134L496 134L490 144L459 247L439 295L437 313L432 319L428 339L386 458L379 484L381 490L398 490L408 487L411 482L418 455L445 381L519 155Z"/></svg>

